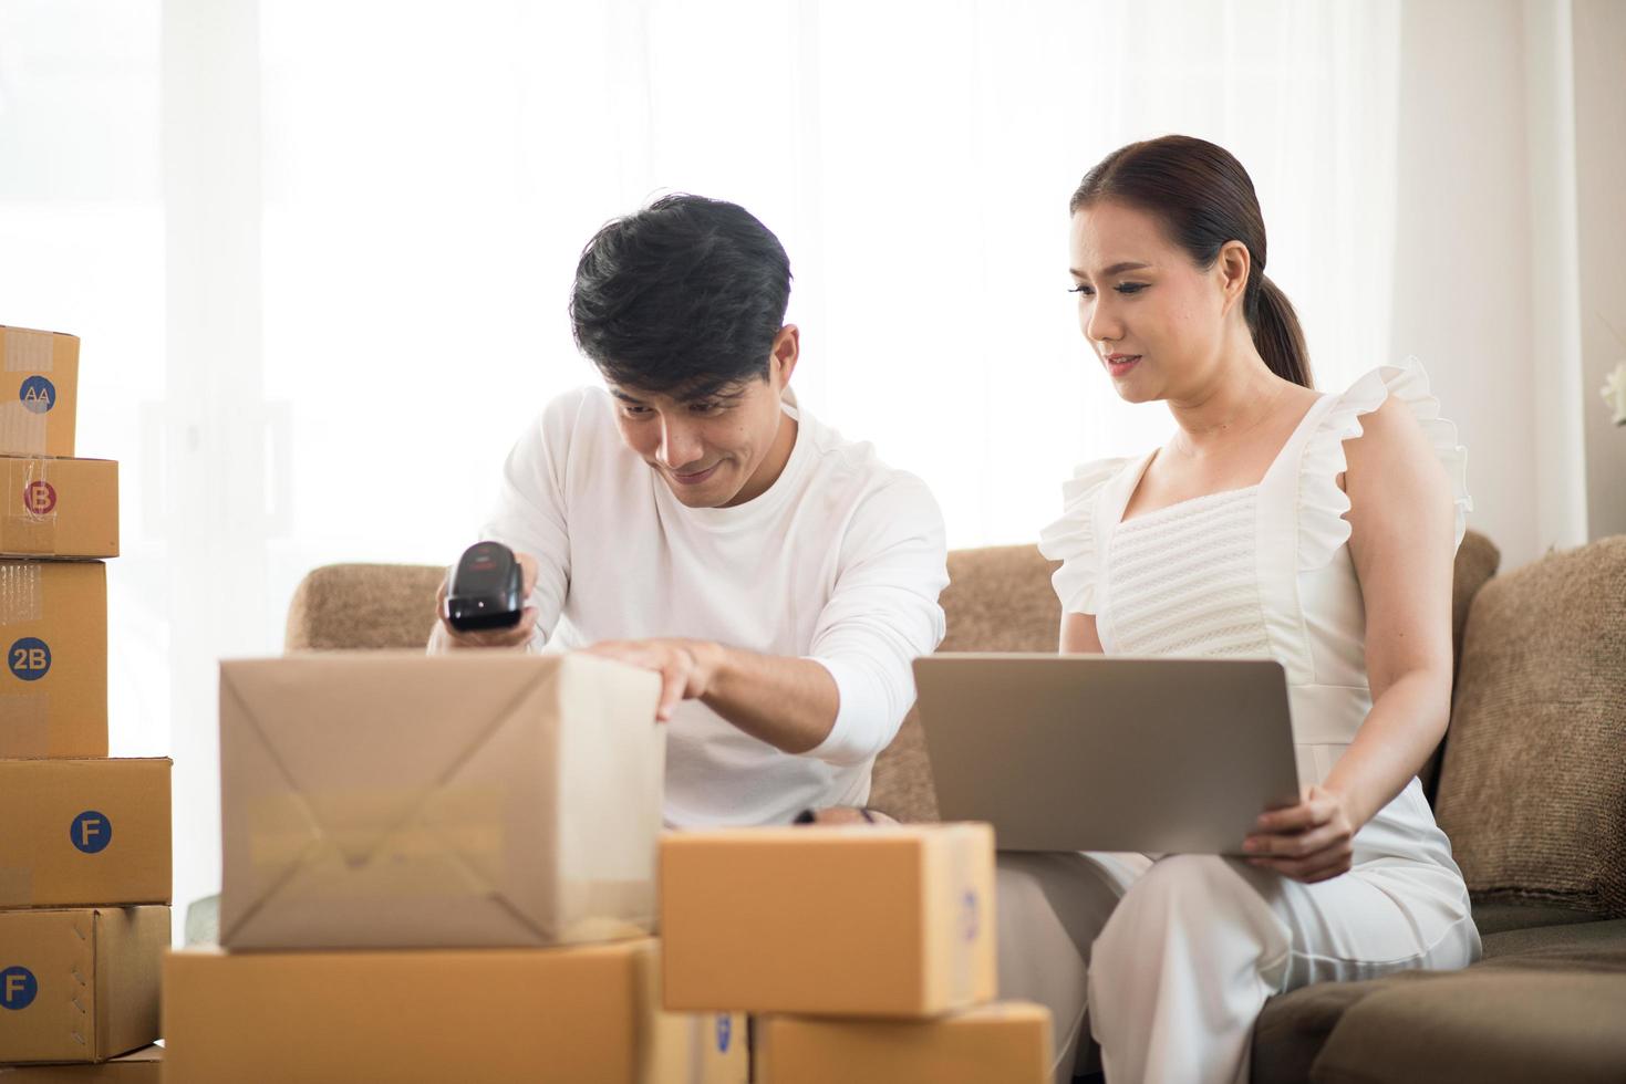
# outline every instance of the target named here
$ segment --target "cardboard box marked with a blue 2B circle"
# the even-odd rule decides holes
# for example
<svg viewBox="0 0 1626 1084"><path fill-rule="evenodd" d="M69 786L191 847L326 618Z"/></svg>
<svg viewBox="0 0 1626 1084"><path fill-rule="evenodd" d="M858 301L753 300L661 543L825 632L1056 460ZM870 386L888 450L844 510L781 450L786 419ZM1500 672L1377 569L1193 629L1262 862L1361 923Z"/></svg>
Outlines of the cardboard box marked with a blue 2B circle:
<svg viewBox="0 0 1626 1084"><path fill-rule="evenodd" d="M0 757L107 756L107 566L0 561Z"/></svg>

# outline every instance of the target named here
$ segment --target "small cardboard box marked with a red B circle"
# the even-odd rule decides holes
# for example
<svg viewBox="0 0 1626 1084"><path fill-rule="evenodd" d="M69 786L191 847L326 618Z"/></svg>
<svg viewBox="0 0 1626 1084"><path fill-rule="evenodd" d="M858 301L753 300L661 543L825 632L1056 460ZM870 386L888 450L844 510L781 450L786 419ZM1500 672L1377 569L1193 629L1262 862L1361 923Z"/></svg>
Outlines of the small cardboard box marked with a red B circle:
<svg viewBox="0 0 1626 1084"><path fill-rule="evenodd" d="M0 457L0 554L117 557L119 465Z"/></svg>

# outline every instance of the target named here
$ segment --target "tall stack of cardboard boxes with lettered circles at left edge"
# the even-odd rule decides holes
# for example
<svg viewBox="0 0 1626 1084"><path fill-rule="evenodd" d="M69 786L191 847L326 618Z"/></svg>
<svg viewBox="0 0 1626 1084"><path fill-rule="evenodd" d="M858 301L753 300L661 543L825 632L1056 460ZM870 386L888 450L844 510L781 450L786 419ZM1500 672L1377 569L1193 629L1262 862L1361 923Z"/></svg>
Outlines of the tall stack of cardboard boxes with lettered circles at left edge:
<svg viewBox="0 0 1626 1084"><path fill-rule="evenodd" d="M0 1079L140 1081L154 1056L120 1055L158 1038L169 761L107 759L119 465L73 458L78 349L0 327Z"/></svg>

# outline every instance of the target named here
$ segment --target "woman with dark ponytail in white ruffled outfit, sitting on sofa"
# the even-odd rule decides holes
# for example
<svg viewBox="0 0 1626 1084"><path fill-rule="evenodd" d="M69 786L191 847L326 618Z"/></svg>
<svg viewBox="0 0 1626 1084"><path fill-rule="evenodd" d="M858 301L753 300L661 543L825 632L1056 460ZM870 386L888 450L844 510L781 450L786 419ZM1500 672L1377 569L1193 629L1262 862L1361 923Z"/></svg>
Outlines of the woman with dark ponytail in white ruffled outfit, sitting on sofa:
<svg viewBox="0 0 1626 1084"><path fill-rule="evenodd" d="M1246 860L1002 855L1000 990L1050 1006L1062 1081L1085 1019L1111 1082L1246 1081L1268 996L1480 954L1416 780L1450 709L1463 450L1416 364L1311 388L1224 150L1125 146L1072 215L1085 336L1177 429L1063 488L1062 652L1276 658L1304 793Z"/></svg>

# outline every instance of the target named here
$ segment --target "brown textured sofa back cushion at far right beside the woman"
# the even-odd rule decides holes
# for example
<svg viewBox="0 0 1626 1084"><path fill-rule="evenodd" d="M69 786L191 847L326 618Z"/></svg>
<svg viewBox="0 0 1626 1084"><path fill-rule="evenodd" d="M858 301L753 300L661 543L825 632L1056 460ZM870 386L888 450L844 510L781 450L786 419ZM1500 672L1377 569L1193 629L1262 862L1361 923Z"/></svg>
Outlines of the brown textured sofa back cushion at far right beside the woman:
<svg viewBox="0 0 1626 1084"><path fill-rule="evenodd" d="M1626 536L1478 593L1436 814L1476 900L1626 915Z"/></svg>

